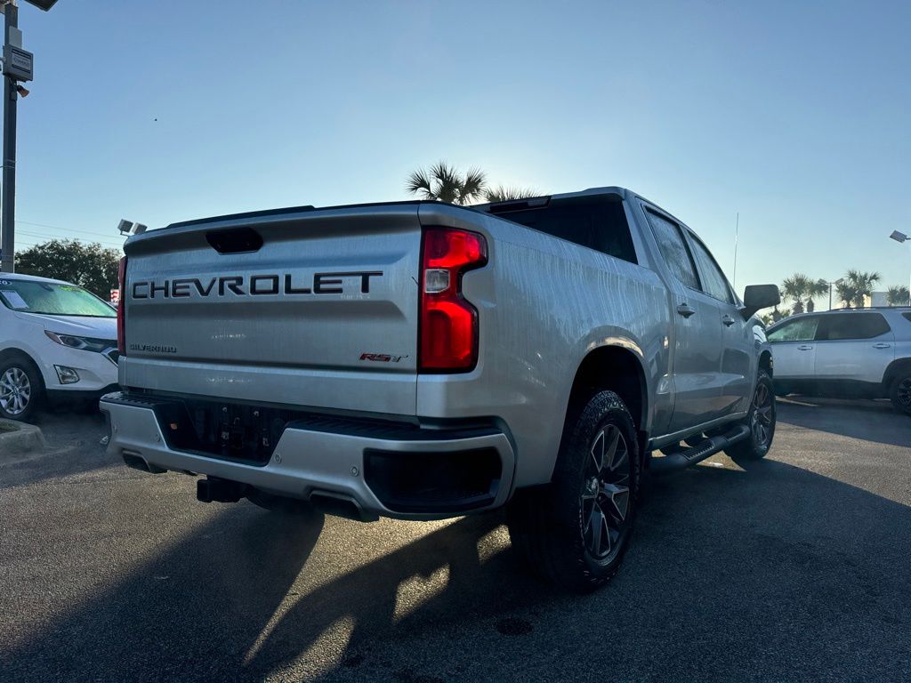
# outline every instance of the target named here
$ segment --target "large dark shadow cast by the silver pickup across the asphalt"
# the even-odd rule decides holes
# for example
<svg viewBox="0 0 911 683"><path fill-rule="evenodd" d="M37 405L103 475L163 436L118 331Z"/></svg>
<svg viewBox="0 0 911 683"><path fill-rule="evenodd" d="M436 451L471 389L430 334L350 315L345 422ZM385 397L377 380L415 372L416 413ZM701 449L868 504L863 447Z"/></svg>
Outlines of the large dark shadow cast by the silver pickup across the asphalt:
<svg viewBox="0 0 911 683"><path fill-rule="evenodd" d="M498 515L302 590L322 517L234 508L8 652L0 678L259 680L333 649L307 678L478 679L536 658L564 678L607 643L626 678L901 678L884 634L911 627L909 523L905 505L788 464L696 467L650 485L611 586L567 596L522 571ZM336 566L356 565L359 528L341 529ZM403 613L415 581L432 586Z"/></svg>

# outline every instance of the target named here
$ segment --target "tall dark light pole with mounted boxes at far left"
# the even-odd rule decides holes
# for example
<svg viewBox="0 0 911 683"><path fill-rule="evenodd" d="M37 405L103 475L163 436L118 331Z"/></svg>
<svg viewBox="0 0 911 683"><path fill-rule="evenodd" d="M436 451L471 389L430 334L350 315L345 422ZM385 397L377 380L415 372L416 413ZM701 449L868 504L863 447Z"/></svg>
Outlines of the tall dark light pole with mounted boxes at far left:
<svg viewBox="0 0 911 683"><path fill-rule="evenodd" d="M56 0L26 0L45 12ZM4 13L3 46L3 209L0 213L0 270L15 270L15 106L28 90L19 81L32 80L32 53L22 49L16 0L0 0Z"/></svg>

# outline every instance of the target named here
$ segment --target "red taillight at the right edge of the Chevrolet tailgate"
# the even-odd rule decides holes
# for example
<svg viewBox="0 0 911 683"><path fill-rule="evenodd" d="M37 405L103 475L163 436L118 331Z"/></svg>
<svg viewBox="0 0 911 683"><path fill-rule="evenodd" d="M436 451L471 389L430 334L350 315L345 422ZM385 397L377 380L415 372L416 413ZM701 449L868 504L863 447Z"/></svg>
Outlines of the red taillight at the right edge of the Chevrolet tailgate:
<svg viewBox="0 0 911 683"><path fill-rule="evenodd" d="M462 296L462 275L487 262L487 243L476 232L424 231L421 255L421 372L465 372L477 362L477 310Z"/></svg>

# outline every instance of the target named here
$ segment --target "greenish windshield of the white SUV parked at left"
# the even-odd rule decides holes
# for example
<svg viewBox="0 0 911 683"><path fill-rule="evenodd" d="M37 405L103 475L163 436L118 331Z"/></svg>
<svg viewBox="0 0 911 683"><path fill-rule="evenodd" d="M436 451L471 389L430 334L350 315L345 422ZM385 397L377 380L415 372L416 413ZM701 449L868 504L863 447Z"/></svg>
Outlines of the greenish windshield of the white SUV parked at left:
<svg viewBox="0 0 911 683"><path fill-rule="evenodd" d="M114 311L89 291L76 285L31 280L0 280L0 301L6 308L45 315L116 318Z"/></svg>

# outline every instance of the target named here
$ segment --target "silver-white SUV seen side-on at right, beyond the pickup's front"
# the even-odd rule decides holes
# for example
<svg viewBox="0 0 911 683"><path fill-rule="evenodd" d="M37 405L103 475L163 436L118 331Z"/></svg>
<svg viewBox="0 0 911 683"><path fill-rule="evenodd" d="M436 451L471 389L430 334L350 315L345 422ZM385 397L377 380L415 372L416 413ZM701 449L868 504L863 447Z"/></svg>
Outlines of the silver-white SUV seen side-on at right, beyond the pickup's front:
<svg viewBox="0 0 911 683"><path fill-rule="evenodd" d="M766 336L779 395L889 398L911 414L911 308L803 313Z"/></svg>

